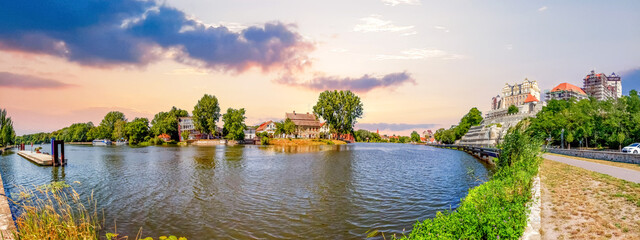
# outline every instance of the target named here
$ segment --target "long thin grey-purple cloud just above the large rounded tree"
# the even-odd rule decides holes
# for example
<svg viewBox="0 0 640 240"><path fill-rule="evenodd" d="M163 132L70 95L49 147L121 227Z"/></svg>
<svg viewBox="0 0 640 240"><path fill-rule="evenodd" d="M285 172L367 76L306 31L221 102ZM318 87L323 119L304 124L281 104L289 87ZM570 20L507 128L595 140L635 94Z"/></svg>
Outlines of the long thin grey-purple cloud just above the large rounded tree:
<svg viewBox="0 0 640 240"><path fill-rule="evenodd" d="M275 82L290 86L302 87L311 90L351 90L354 92L365 93L376 88L393 88L405 83L417 84L407 72L390 73L382 77L375 77L365 74L359 78L336 77L336 76L319 76L314 77L310 81L300 82L289 76L275 80Z"/></svg>

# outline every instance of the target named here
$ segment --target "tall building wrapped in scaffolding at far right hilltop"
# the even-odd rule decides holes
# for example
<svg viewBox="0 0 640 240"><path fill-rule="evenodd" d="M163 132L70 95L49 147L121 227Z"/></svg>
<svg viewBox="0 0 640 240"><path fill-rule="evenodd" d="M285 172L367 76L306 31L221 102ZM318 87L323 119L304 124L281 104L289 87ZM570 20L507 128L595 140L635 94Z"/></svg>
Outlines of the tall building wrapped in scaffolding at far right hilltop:
<svg viewBox="0 0 640 240"><path fill-rule="evenodd" d="M597 100L617 99L622 97L622 83L620 76L611 73L610 76L604 73L591 73L584 78L583 90Z"/></svg>

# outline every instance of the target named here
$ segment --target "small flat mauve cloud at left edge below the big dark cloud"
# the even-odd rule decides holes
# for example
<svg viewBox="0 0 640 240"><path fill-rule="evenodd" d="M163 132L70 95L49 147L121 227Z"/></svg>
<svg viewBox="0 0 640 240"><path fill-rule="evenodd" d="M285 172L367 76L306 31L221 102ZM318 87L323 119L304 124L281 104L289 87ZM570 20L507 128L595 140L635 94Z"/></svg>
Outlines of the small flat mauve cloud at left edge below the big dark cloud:
<svg viewBox="0 0 640 240"><path fill-rule="evenodd" d="M0 72L0 88L21 88L21 89L59 89L71 87L57 80L40 78L29 75L14 74L10 72Z"/></svg>

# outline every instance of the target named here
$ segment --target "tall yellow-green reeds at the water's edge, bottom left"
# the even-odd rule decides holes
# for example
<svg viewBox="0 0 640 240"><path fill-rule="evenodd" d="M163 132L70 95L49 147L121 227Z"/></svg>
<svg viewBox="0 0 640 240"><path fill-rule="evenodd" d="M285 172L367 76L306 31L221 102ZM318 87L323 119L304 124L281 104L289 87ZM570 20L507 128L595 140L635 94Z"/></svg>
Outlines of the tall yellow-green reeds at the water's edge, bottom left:
<svg viewBox="0 0 640 240"><path fill-rule="evenodd" d="M80 199L70 185L62 182L39 186L34 190L21 188L14 201L22 210L16 219L18 231L14 239L85 239L98 240L104 219L98 217L93 194L86 200ZM108 240L122 240L117 233L107 233ZM153 240L136 236L135 239ZM184 237L161 236L160 240L186 240Z"/></svg>

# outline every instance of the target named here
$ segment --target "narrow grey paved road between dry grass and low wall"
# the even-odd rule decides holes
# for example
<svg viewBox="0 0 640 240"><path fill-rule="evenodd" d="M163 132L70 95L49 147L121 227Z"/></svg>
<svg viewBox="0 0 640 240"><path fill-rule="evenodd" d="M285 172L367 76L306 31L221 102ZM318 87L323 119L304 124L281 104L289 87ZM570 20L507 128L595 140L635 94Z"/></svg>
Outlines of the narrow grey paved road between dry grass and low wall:
<svg viewBox="0 0 640 240"><path fill-rule="evenodd" d="M573 158L562 157L551 154L544 154L542 157L556 162L566 163L572 166L581 167L590 171L604 173L612 177L627 180L629 182L640 183L640 171L627 168L614 167L610 165L581 161Z"/></svg>

